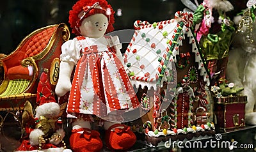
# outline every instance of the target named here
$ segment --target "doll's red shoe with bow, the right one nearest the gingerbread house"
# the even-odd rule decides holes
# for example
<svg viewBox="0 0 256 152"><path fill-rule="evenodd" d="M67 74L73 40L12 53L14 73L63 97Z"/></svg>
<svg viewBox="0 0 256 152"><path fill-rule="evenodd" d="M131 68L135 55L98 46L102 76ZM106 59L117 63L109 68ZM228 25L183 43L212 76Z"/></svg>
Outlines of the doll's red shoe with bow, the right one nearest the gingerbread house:
<svg viewBox="0 0 256 152"><path fill-rule="evenodd" d="M120 128L119 128L120 127ZM136 135L129 126L115 124L106 130L106 145L112 150L131 148L136 142Z"/></svg>

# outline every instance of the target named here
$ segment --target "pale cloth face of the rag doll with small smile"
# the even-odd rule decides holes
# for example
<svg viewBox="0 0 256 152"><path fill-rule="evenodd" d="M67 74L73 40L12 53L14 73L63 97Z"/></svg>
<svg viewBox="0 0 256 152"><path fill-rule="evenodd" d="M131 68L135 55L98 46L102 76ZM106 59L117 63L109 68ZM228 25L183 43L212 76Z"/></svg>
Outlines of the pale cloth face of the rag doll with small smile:
<svg viewBox="0 0 256 152"><path fill-rule="evenodd" d="M96 13L83 20L80 31L83 36L89 38L102 37L108 27L108 18L102 13Z"/></svg>

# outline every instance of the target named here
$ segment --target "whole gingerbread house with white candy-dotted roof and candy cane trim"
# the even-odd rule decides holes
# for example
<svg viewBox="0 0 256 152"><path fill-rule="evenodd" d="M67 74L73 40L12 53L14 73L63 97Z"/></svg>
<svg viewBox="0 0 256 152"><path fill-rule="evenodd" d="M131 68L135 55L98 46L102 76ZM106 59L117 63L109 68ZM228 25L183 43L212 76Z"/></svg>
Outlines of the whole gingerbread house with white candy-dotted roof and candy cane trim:
<svg viewBox="0 0 256 152"><path fill-rule="evenodd" d="M182 11L175 13L175 19L134 23L124 61L141 98L142 123L152 124L145 131L148 137L214 128L209 123L209 72L192 24L193 15Z"/></svg>

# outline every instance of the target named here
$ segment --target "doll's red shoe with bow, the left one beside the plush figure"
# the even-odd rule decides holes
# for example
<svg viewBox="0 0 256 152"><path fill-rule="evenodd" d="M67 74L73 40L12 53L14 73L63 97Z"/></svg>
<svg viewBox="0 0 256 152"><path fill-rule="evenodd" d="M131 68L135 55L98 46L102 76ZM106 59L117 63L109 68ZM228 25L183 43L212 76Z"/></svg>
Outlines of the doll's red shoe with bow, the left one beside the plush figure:
<svg viewBox="0 0 256 152"><path fill-rule="evenodd" d="M73 129L69 141L74 152L92 152L102 149L100 133L88 128Z"/></svg>

